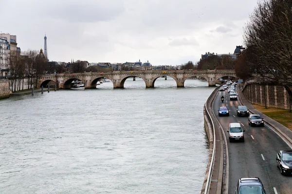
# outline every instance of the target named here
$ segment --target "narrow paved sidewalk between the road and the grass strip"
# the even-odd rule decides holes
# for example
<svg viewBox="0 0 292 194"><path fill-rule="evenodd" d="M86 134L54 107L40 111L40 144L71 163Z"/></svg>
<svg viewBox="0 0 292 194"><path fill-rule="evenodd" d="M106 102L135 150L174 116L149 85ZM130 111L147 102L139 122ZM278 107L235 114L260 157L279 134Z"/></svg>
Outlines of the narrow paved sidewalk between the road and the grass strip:
<svg viewBox="0 0 292 194"><path fill-rule="evenodd" d="M267 115L256 110L255 107L253 107L253 105L245 98L245 96L242 93L242 89L237 90L237 94L238 97L240 98L241 104L245 105L249 109L250 113L259 114L261 117L264 118L265 124L270 125L273 129L280 133L280 135L283 138L285 138L289 143L292 144L292 131L290 129L286 128L282 124L278 123L277 121L271 119Z"/></svg>

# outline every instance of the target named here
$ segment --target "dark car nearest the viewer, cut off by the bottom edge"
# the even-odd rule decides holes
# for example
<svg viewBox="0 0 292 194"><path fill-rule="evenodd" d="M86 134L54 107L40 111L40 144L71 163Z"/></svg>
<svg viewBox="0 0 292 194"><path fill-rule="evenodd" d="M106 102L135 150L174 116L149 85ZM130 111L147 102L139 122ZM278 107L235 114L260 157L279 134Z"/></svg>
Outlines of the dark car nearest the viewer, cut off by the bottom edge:
<svg viewBox="0 0 292 194"><path fill-rule="evenodd" d="M263 183L257 177L239 178L236 186L236 194L267 194Z"/></svg>

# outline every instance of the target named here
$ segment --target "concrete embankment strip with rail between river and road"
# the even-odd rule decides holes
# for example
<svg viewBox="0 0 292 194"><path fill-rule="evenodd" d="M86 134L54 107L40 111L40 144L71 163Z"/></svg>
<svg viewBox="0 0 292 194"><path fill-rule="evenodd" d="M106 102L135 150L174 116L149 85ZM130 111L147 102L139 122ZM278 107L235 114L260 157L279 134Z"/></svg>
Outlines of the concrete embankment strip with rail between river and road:
<svg viewBox="0 0 292 194"><path fill-rule="evenodd" d="M220 85L221 86L221 85ZM220 87L219 86L219 87ZM228 168L228 160L226 156L224 158L226 146L226 137L222 134L222 129L216 123L216 118L212 113L212 104L218 94L219 87L217 87L210 97L207 99L204 105L204 125L205 131L209 140L209 160L207 164L205 179L201 189L201 194L223 194L228 193L226 189L226 181L228 182L228 173L224 173L224 164ZM225 142L225 143L224 143ZM224 146L225 145L225 146ZM223 183L223 176L225 183ZM227 183L228 184L228 183Z"/></svg>

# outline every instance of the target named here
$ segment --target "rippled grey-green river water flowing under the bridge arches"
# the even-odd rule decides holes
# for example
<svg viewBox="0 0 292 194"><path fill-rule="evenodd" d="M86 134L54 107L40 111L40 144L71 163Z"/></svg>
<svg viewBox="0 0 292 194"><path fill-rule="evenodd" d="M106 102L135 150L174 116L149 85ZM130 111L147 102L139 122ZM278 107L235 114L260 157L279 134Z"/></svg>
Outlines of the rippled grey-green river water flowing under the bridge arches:
<svg viewBox="0 0 292 194"><path fill-rule="evenodd" d="M214 88L159 78L0 100L1 194L200 194Z"/></svg>

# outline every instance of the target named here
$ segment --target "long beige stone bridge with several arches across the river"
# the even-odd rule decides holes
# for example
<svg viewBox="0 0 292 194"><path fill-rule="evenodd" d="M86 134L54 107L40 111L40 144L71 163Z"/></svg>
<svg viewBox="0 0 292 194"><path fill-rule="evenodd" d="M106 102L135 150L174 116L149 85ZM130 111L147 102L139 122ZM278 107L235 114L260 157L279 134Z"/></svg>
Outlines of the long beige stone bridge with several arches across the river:
<svg viewBox="0 0 292 194"><path fill-rule="evenodd" d="M234 70L144 70L144 71L112 71L112 72L88 72L73 74L44 75L37 81L37 87L46 86L54 81L60 89L70 88L73 80L80 80L85 88L96 88L96 83L102 78L108 78L114 88L124 88L124 83L129 77L140 77L145 81L146 88L154 87L157 78L169 76L173 78L177 87L183 87L184 81L192 77L202 77L208 81L209 86L215 86L216 81L224 76L237 78Z"/></svg>

